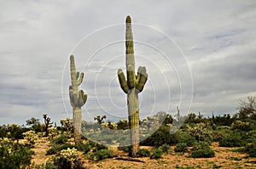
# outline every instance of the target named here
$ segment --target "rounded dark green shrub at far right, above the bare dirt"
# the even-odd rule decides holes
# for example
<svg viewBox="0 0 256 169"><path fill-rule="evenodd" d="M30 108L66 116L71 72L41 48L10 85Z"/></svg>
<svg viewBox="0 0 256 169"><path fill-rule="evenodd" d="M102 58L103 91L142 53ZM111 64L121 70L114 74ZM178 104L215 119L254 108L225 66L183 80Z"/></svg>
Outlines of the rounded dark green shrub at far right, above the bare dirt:
<svg viewBox="0 0 256 169"><path fill-rule="evenodd" d="M227 134L219 141L220 147L241 147L245 144L245 139L241 137L239 132Z"/></svg>

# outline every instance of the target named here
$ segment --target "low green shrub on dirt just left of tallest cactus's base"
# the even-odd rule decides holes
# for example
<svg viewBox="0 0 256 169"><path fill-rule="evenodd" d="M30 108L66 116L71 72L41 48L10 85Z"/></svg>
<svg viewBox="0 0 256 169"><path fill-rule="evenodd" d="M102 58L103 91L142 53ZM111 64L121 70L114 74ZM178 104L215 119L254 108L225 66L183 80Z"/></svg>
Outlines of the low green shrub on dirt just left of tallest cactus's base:
<svg viewBox="0 0 256 169"><path fill-rule="evenodd" d="M89 159L93 161L101 161L103 159L112 158L113 150L112 149L99 149L96 152L93 152L89 155Z"/></svg>

